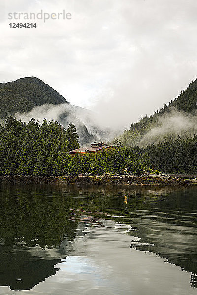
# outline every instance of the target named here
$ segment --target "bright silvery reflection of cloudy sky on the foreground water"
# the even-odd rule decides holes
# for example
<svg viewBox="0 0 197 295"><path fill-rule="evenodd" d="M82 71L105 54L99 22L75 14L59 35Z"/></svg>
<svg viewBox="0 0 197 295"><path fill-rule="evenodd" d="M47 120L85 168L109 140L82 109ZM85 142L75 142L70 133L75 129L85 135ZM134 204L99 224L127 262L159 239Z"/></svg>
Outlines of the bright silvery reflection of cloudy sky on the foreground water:
<svg viewBox="0 0 197 295"><path fill-rule="evenodd" d="M74 255L55 265L59 268L55 275L18 295L146 295L156 290L160 295L185 295L188 290L196 294L189 286L190 273L152 253L130 248L131 239L137 238L125 235L129 226L111 220L101 223L84 228L86 234L75 238ZM13 293L8 288L0 288L2 292Z"/></svg>

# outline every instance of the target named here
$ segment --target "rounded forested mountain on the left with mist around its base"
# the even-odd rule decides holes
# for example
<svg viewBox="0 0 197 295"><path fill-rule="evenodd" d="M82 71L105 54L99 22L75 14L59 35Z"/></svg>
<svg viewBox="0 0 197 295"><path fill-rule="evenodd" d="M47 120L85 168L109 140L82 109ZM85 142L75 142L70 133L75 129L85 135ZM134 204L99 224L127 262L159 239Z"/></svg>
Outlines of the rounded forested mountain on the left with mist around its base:
<svg viewBox="0 0 197 295"><path fill-rule="evenodd" d="M15 116L28 122L36 120L56 120L65 128L74 123L81 144L94 140L85 124L76 117L72 106L62 95L36 77L20 78L13 82L0 83L0 119Z"/></svg>

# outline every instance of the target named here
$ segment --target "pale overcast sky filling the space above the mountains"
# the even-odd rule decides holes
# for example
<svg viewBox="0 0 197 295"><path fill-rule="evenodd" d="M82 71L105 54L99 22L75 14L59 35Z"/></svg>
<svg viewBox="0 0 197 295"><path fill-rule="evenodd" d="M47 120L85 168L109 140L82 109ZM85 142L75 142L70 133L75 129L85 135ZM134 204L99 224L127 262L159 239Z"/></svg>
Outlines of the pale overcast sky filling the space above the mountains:
<svg viewBox="0 0 197 295"><path fill-rule="evenodd" d="M71 13L10 28L9 13ZM129 128L197 77L197 0L1 0L0 82L35 76Z"/></svg>

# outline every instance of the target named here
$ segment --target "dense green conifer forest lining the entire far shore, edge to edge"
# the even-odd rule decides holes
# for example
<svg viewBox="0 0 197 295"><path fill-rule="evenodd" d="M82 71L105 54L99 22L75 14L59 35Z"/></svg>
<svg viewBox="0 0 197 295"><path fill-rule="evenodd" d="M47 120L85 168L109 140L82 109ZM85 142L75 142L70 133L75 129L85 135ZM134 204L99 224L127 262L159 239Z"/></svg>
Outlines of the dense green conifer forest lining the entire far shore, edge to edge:
<svg viewBox="0 0 197 295"><path fill-rule="evenodd" d="M79 136L74 124L63 128L59 123L43 120L42 125L33 118L28 124L16 118L6 119L0 125L1 175L62 175L70 173L124 174L127 167L132 174L143 171L177 174L197 174L197 135L143 147L123 147L114 142L115 151L95 155L87 152L83 157L70 156L69 151L79 148Z"/></svg>

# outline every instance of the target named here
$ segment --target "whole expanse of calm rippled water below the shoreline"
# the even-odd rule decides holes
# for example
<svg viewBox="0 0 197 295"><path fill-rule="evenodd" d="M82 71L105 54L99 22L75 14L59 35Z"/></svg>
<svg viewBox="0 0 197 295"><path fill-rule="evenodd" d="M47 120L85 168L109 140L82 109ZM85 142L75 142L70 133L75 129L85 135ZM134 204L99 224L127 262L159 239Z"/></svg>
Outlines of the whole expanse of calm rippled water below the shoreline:
<svg viewBox="0 0 197 295"><path fill-rule="evenodd" d="M13 294L197 294L197 187L0 184Z"/></svg>

